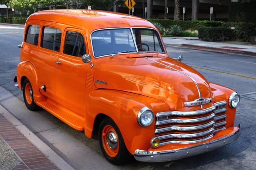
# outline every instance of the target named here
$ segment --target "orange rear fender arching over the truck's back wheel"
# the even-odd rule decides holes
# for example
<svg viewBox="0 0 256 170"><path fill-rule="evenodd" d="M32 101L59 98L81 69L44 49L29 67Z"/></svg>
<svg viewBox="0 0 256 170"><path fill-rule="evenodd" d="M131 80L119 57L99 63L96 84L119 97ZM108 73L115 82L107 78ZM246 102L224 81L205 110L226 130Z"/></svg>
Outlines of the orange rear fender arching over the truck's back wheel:
<svg viewBox="0 0 256 170"><path fill-rule="evenodd" d="M20 90L22 90L21 80L22 77L27 77L33 89L33 98L35 102L46 101L46 98L42 96L39 91L38 78L36 69L29 61L22 61L17 67L17 82Z"/></svg>

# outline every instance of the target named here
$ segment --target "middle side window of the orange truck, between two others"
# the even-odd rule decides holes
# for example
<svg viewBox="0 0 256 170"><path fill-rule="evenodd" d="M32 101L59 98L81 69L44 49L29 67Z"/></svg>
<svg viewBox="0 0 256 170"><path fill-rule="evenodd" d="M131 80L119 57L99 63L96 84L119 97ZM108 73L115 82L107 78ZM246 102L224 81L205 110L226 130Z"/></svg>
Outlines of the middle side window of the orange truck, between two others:
<svg viewBox="0 0 256 170"><path fill-rule="evenodd" d="M41 47L53 51L60 51L61 30L52 27L44 27Z"/></svg>

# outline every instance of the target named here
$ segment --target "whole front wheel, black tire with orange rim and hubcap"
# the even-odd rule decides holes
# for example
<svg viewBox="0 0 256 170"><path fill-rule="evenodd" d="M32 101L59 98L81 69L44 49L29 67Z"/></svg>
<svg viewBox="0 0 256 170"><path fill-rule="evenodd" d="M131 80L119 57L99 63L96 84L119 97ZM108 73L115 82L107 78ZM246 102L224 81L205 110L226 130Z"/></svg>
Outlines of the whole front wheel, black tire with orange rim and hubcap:
<svg viewBox="0 0 256 170"><path fill-rule="evenodd" d="M124 139L112 119L104 118L100 123L98 139L105 158L112 164L122 164L132 158L126 149Z"/></svg>

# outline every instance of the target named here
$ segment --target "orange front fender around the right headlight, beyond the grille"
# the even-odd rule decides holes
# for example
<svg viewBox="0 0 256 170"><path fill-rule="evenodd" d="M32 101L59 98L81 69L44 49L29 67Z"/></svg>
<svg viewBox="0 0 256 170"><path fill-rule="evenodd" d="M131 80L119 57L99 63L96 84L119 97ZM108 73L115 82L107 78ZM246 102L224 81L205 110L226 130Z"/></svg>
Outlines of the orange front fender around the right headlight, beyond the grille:
<svg viewBox="0 0 256 170"><path fill-rule="evenodd" d="M234 90L227 88L225 86L221 86L219 84L215 84L215 83L210 83L210 88L212 90L212 93L214 94L214 100L215 102L220 102L220 101L226 101L226 128L228 127L233 127L234 126L234 121L235 121L235 117L236 117L236 108L230 108L229 104L228 104L228 99L230 97L230 95L235 92Z"/></svg>

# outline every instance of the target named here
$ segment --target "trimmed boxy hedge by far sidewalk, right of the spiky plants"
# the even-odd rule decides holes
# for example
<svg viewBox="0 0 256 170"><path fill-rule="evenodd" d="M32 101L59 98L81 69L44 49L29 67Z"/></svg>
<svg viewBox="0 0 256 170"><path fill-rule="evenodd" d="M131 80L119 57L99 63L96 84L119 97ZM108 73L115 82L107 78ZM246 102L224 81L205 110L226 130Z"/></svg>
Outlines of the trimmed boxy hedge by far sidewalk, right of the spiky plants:
<svg viewBox="0 0 256 170"><path fill-rule="evenodd" d="M233 32L227 27L200 27L198 37L204 41L227 41L233 39Z"/></svg>

